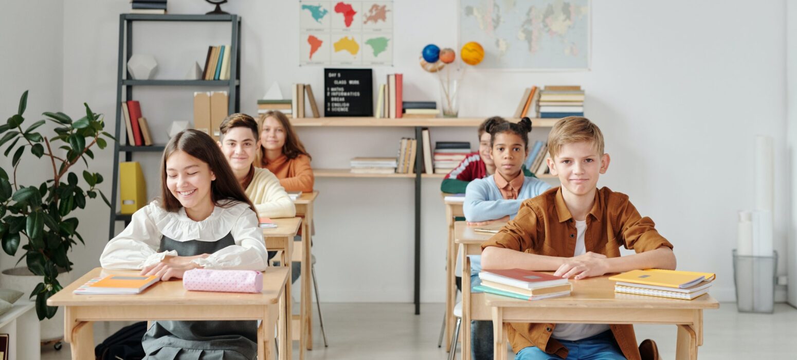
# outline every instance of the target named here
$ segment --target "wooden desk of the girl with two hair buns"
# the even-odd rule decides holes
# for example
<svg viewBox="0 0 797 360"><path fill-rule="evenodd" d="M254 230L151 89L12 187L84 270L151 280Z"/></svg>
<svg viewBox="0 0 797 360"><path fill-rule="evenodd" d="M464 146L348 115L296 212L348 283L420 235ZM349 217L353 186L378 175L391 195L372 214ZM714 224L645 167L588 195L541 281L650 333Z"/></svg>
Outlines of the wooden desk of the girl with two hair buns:
<svg viewBox="0 0 797 360"><path fill-rule="evenodd" d="M468 226L465 221L453 224L453 241L463 247L462 250L462 360L470 359L470 320L489 320L490 309L484 302L485 294L470 294L470 259L469 255L481 255L481 243L493 237L492 233L473 231L478 226Z"/></svg>

